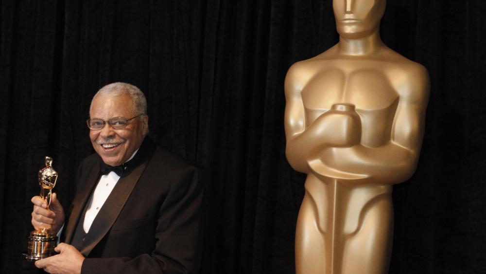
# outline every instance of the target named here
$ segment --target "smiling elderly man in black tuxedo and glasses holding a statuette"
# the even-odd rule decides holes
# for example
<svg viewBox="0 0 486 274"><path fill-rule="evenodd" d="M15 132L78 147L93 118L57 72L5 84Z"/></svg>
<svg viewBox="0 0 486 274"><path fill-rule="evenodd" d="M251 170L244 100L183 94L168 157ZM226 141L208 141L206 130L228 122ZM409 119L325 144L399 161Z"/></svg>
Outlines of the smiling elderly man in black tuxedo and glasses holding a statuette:
<svg viewBox="0 0 486 274"><path fill-rule="evenodd" d="M196 168L146 137L147 102L113 83L91 101L87 125L96 154L79 166L67 211L32 198L35 229L62 231L49 273L195 273L202 254L202 186ZM63 226L64 224L64 226ZM62 227L63 226L63 227Z"/></svg>

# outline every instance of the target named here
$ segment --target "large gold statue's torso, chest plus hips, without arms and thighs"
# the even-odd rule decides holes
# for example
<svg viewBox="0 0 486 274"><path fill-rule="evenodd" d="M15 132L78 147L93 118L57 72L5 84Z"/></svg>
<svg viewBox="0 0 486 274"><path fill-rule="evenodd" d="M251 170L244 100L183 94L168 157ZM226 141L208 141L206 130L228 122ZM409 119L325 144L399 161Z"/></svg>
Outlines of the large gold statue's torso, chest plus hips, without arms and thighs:
<svg viewBox="0 0 486 274"><path fill-rule="evenodd" d="M330 50L332 52L332 49ZM391 51L391 50L390 50ZM355 105L362 126L361 145L383 146L391 141L396 114L399 111L401 85L407 85L408 72L412 61L392 52L393 58L374 59L372 57L334 58L327 53L298 63L299 83L305 112L305 128L309 127L321 114L330 110L333 104ZM406 95L406 94L405 94ZM351 207L343 218L346 233L359 228L359 216L366 204L375 198L391 199L391 185L345 186L339 179L318 179L310 174L306 189L317 202L320 227L328 228L328 218L324 218L331 208ZM323 174L321 174L323 175ZM317 177L316 177L317 176ZM334 193L334 194L331 194ZM340 193L336 196L336 193ZM340 201L336 201L340 197ZM338 218L338 217L334 217Z"/></svg>

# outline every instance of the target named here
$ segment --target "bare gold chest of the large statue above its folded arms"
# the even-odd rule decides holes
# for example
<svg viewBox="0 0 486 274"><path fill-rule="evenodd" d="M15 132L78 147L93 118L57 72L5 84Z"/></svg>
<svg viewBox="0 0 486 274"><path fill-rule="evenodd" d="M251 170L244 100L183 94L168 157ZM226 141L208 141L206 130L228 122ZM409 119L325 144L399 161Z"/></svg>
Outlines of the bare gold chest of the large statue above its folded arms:
<svg viewBox="0 0 486 274"><path fill-rule="evenodd" d="M348 103L360 115L362 145L377 147L390 141L399 93L387 71L397 65L368 59L305 62L310 76L301 91L306 127L333 104Z"/></svg>

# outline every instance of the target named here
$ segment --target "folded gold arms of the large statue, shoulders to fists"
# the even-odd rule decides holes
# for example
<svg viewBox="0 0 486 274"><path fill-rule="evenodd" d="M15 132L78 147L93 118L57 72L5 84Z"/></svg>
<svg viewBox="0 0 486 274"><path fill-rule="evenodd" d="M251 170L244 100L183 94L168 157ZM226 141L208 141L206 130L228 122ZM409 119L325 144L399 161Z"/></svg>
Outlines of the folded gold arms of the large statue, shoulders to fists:
<svg viewBox="0 0 486 274"><path fill-rule="evenodd" d="M301 68L299 64L296 65L289 70L285 82L286 154L295 170L309 173L313 161L319 159L329 167L328 172L335 170L343 173L342 183L394 184L412 176L417 166L429 97L425 68L415 64L413 70L407 73L408 79L392 83L397 87L399 101L396 113L393 113L390 138L387 142L381 142L382 146L373 147L361 143L361 121L354 124L348 122L350 116L356 113L354 110L343 112L340 121L326 115L328 110L308 125L302 100L302 90L305 88L302 79L305 81L306 77L299 75ZM321 168L319 173L325 172Z"/></svg>

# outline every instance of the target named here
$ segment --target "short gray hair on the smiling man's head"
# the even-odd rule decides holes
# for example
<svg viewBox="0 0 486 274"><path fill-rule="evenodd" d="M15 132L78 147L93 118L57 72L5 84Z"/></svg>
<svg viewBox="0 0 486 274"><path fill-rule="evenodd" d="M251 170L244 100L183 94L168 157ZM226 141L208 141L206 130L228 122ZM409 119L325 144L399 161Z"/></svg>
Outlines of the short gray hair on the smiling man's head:
<svg viewBox="0 0 486 274"><path fill-rule="evenodd" d="M134 85L122 82L108 84L101 88L98 92L96 92L96 94L93 96L93 99L91 100L91 105L89 106L89 109L91 110L91 107L93 106L93 100L98 95L116 97L123 94L127 94L132 97L137 114L147 114L147 100L145 99L145 95L143 95L143 92Z"/></svg>

